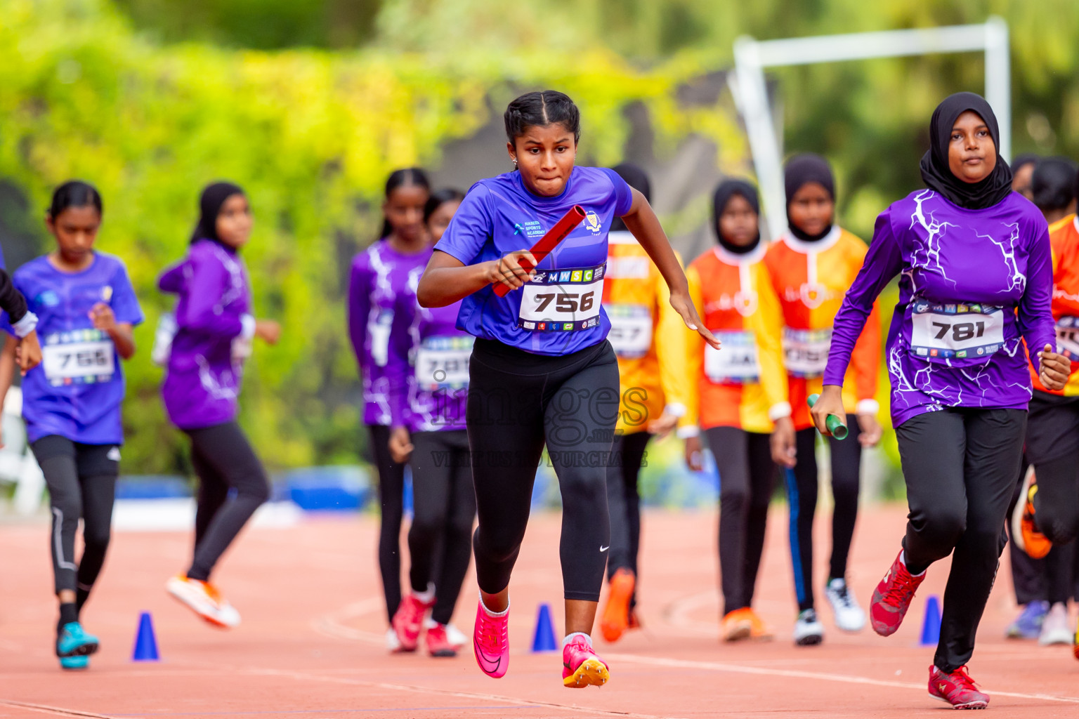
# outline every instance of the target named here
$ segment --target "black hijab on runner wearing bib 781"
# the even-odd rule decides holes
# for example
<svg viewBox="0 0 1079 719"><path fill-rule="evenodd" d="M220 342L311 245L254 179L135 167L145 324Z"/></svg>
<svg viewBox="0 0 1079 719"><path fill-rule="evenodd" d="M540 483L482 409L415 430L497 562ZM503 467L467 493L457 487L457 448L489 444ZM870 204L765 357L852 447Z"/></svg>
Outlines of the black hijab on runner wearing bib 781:
<svg viewBox="0 0 1079 719"><path fill-rule="evenodd" d="M976 112L985 121L997 150L997 166L981 182L964 182L952 174L947 164L952 128L959 115L967 110ZM1000 156L997 116L993 114L993 108L984 97L974 93L956 93L948 95L937 106L933 117L929 121L929 151L921 157L921 179L930 190L935 190L955 205L970 210L993 207L1011 193L1012 171Z"/></svg>

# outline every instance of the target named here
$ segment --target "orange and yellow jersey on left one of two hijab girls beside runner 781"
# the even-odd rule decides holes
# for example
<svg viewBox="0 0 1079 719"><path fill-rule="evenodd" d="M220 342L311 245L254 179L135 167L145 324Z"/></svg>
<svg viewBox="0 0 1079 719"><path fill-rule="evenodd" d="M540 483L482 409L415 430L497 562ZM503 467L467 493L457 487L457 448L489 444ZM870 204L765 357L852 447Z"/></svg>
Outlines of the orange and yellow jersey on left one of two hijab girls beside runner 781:
<svg viewBox="0 0 1079 719"><path fill-rule="evenodd" d="M713 349L694 333L689 374L697 391L688 416L702 429L770 432L791 414L780 344L782 313L764 266L762 243L746 254L715 247L686 272L689 296L705 327L723 343Z"/></svg>

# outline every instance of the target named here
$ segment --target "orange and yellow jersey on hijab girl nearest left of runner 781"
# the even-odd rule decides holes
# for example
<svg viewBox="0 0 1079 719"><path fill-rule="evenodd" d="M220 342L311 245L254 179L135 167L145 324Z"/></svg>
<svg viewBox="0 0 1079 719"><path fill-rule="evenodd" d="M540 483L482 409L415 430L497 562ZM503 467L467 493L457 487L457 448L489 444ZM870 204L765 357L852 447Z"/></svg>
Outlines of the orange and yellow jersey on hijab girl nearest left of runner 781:
<svg viewBox="0 0 1079 719"><path fill-rule="evenodd" d="M806 398L823 387L832 323L865 251L865 243L836 225L816 241L797 239L788 232L765 254L764 264L783 310L783 365L796 429L812 426ZM879 364L880 315L874 302L843 383L848 413L875 414L879 409L874 399Z"/></svg>

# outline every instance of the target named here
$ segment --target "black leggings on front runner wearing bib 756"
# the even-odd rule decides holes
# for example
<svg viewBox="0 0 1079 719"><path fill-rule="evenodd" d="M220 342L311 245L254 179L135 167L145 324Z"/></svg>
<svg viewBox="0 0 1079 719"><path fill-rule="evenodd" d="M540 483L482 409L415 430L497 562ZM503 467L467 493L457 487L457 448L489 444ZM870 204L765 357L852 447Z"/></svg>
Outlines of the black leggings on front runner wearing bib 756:
<svg viewBox="0 0 1079 719"><path fill-rule="evenodd" d="M611 541L606 467L618 415L611 344L546 357L477 340L468 374L479 587L496 594L509 585L546 441L562 493L564 597L599 602Z"/></svg>

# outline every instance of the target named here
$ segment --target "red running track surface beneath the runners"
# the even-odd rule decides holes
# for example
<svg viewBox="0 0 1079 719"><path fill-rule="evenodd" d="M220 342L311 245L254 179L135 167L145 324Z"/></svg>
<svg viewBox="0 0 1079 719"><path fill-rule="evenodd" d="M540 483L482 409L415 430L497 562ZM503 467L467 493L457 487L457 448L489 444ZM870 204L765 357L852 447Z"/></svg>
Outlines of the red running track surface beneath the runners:
<svg viewBox="0 0 1079 719"><path fill-rule="evenodd" d="M601 689L561 686L560 656L529 653L540 602L561 624L557 514L533 517L513 584L509 674L480 674L457 659L388 655L375 570L375 520L314 517L287 529L251 529L218 571L244 616L233 632L202 624L166 596L165 579L185 566L187 534L113 535L111 554L84 612L101 651L85 673L62 673L53 656L55 605L47 528L0 525L0 717L935 717L945 705L926 693L932 649L917 646L925 598L943 590L946 562L929 570L907 623L884 639L869 628L844 635L818 605L824 644L790 640L795 606L784 507L771 515L755 606L777 638L718 641L714 513L645 517L641 616L645 628L617 645L597 641L611 664ZM866 510L850 580L868 602L898 550L904 509ZM818 518L817 586L829 549ZM407 564L407 563L406 563ZM1064 647L1002 638L1014 614L1007 564L989 599L971 672L1006 717L1079 717L1079 662ZM469 577L456 622L475 611ZM821 602L821 599L818 599ZM153 612L162 659L129 661L138 614Z"/></svg>

